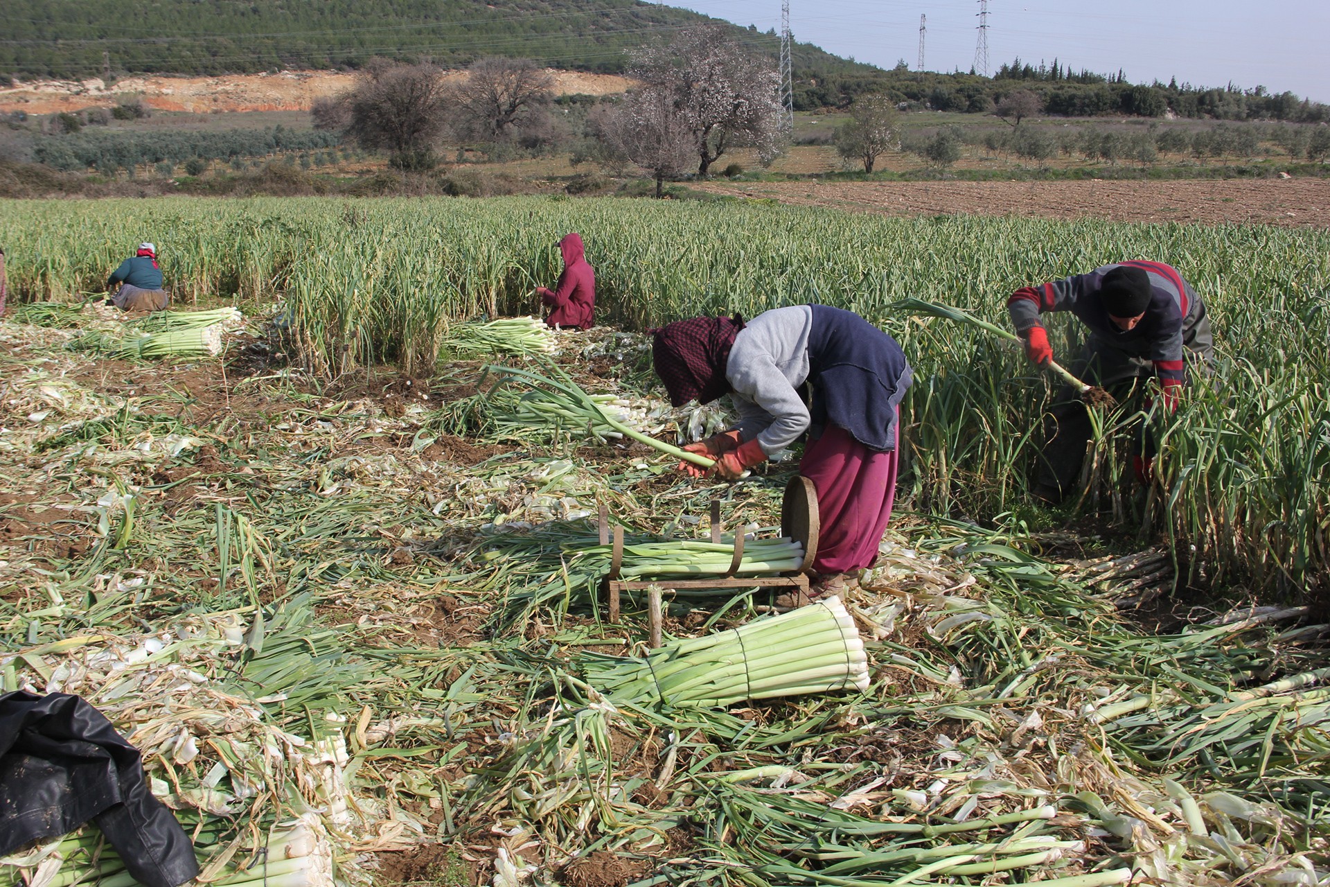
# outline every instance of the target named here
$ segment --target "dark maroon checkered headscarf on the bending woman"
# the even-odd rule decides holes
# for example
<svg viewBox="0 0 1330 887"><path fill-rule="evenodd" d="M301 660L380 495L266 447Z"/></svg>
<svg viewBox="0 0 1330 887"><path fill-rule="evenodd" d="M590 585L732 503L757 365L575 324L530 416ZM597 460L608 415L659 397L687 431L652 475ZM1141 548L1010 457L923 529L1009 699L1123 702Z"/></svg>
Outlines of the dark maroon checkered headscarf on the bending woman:
<svg viewBox="0 0 1330 887"><path fill-rule="evenodd" d="M710 403L730 390L725 366L743 318L693 318L666 323L656 332L652 358L676 407L697 398Z"/></svg>

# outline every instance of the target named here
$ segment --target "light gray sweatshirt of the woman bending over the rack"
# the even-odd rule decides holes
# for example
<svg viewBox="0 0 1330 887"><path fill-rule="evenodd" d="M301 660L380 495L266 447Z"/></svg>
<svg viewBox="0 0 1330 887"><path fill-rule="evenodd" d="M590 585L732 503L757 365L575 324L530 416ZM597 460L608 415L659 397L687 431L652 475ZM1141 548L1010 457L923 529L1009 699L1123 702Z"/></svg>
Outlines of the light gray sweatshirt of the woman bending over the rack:
<svg viewBox="0 0 1330 887"><path fill-rule="evenodd" d="M763 311L734 336L725 376L739 412L737 427L745 442L757 438L767 456L793 444L811 422L798 392L809 378L811 328L813 309L797 305Z"/></svg>

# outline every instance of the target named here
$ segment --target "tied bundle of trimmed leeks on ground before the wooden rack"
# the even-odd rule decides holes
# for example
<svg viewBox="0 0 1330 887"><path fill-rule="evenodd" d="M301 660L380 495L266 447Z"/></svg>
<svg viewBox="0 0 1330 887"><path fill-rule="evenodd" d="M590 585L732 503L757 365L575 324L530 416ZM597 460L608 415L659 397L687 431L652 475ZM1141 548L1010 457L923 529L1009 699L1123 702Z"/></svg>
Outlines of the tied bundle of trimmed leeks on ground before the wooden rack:
<svg viewBox="0 0 1330 887"><path fill-rule="evenodd" d="M743 699L868 689L868 658L839 597L729 632L666 644L645 660L587 653L587 680L621 705L724 707Z"/></svg>

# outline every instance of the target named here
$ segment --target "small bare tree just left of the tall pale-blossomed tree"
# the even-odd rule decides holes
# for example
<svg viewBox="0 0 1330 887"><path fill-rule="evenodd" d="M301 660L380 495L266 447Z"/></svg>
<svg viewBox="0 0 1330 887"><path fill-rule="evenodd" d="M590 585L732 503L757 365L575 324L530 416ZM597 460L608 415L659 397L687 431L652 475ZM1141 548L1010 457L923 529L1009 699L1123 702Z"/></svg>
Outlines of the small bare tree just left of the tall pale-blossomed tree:
<svg viewBox="0 0 1330 887"><path fill-rule="evenodd" d="M656 178L656 197L666 178L686 173L697 162L697 142L686 116L669 93L654 86L633 89L598 121L598 136Z"/></svg>

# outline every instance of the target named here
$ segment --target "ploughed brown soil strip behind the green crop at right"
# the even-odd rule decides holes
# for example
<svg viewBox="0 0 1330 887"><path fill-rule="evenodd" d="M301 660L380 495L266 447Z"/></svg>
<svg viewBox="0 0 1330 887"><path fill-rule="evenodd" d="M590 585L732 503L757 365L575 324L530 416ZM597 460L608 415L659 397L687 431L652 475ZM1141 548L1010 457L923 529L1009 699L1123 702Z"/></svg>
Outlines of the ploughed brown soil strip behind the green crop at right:
<svg viewBox="0 0 1330 887"><path fill-rule="evenodd" d="M1330 227L1330 180L705 182L700 190L887 215L978 213Z"/></svg>

